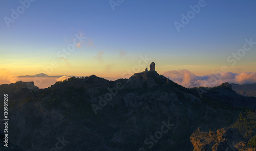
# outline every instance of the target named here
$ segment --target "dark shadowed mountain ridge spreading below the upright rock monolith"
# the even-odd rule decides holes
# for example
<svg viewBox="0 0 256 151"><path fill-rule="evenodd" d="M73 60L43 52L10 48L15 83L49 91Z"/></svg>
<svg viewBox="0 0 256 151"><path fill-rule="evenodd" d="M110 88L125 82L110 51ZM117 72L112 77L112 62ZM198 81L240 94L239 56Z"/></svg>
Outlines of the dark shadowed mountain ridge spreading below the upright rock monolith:
<svg viewBox="0 0 256 151"><path fill-rule="evenodd" d="M200 97L156 71L116 81L73 77L9 99L10 141L25 150L193 150L198 127L230 127L256 103L229 85Z"/></svg>

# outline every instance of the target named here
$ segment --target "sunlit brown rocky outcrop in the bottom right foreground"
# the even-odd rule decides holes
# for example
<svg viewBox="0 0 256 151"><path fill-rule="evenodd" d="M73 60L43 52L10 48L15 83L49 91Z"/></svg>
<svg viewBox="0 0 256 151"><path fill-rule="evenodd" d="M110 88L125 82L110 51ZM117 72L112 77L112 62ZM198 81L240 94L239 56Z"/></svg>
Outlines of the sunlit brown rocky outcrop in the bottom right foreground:
<svg viewBox="0 0 256 151"><path fill-rule="evenodd" d="M195 151L245 151L255 150L248 147L243 136L236 128L223 128L217 132L201 132L199 129L190 136Z"/></svg>

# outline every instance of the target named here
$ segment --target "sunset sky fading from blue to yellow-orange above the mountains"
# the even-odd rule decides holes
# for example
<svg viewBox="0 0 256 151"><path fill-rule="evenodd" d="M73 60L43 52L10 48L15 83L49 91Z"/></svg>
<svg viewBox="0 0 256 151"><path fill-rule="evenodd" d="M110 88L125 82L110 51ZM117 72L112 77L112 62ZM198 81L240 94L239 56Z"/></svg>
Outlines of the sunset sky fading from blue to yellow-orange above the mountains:
<svg viewBox="0 0 256 151"><path fill-rule="evenodd" d="M253 0L0 0L0 79L252 73L255 18Z"/></svg>

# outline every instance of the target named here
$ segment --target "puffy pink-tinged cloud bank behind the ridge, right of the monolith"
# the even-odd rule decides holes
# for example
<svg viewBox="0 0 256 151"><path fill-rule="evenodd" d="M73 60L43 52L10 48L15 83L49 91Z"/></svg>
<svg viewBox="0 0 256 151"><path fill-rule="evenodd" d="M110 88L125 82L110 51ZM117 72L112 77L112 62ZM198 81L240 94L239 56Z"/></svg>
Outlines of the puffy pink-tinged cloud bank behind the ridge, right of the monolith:
<svg viewBox="0 0 256 151"><path fill-rule="evenodd" d="M256 72L242 72L240 74L232 72L220 72L218 74L216 73L197 76L194 73L191 73L189 70L182 69L167 71L164 72L163 75L187 88L200 86L215 87L221 85L224 82L236 84L256 83Z"/></svg>

